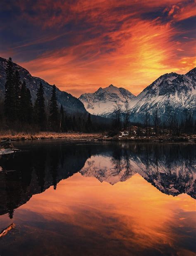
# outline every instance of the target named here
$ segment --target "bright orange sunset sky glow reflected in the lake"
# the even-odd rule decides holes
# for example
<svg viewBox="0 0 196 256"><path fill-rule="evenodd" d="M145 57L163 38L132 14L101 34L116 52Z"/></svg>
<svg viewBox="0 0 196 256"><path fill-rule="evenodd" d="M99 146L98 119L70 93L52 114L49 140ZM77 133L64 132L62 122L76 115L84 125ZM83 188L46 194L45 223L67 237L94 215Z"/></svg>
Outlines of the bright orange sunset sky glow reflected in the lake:
<svg viewBox="0 0 196 256"><path fill-rule="evenodd" d="M44 248L50 248L50 235L60 240L58 226L62 234L69 234L69 223L74 230L77 228L74 237L79 237L84 243L88 243L86 234L91 232L97 248L98 241L107 241L111 255L120 248L116 247L115 241L120 241L123 248L131 248L139 254L150 248L156 248L160 253L163 253L165 246L176 249L180 241L189 237L189 232L184 233L184 226L194 217L194 209L194 199L190 196L165 195L139 174L112 186L106 182L100 184L96 178L86 178L78 173L61 181L55 193L51 187L42 194L34 195L17 210L16 216L17 224L28 223L29 216L32 219L36 216L36 221L46 222L47 225L50 223L45 234L42 234L43 230L36 226L36 222L31 223L36 231L30 236L42 234ZM195 226L194 223L191 225ZM28 232L29 224L26 228ZM179 234L176 234L176 230L179 230ZM66 248L65 242L62 247ZM194 255L189 250L178 253Z"/></svg>

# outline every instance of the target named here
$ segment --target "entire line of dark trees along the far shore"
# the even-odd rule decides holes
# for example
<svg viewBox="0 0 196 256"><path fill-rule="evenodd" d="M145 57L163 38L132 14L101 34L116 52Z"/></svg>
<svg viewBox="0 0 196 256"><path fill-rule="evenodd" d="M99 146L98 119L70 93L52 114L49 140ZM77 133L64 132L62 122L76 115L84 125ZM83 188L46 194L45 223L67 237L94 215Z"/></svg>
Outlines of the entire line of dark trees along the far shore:
<svg viewBox="0 0 196 256"><path fill-rule="evenodd" d="M31 93L26 86L25 78L21 82L18 70L14 70L12 58L7 60L5 100L0 104L0 119L2 127L17 131L79 131L93 132L111 130L115 135L120 130L137 126L137 135L160 135L165 129L167 133L178 135L180 133L195 133L196 121L192 111L176 113L168 102L163 119L163 109L155 104L153 111L146 109L142 122L131 122L131 108L126 101L124 108L116 103L111 114L111 119L91 116L89 113L69 115L63 106L57 104L57 87L53 85L49 107L46 107L44 86L42 82L37 89L36 100L33 104ZM132 118L133 119L133 118ZM111 121L112 120L112 121ZM153 128L153 130L152 130Z"/></svg>

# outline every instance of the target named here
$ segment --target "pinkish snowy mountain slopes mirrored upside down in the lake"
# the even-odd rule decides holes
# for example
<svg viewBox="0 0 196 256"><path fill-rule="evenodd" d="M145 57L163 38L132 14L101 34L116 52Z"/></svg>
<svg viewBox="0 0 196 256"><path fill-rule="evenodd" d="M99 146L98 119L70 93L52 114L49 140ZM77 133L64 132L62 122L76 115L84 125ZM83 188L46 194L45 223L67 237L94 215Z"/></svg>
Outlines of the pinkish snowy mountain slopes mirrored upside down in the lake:
<svg viewBox="0 0 196 256"><path fill-rule="evenodd" d="M115 185L126 181L135 174L141 175L146 181L158 188L161 192L177 196L187 193L195 198L196 172L195 161L186 163L183 158L167 162L165 155L155 162L152 154L146 162L144 155L129 155L120 160L110 156L95 155L86 160L80 173L86 177L95 177L100 182Z"/></svg>

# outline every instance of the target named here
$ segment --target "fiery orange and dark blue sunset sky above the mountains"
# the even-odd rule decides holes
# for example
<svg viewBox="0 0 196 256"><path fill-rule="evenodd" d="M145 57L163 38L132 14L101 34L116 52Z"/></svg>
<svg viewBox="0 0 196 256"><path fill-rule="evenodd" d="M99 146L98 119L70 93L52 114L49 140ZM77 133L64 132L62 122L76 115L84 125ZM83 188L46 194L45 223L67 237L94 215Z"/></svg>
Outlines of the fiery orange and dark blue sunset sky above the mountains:
<svg viewBox="0 0 196 256"><path fill-rule="evenodd" d="M196 66L194 0L1 0L0 56L79 97Z"/></svg>

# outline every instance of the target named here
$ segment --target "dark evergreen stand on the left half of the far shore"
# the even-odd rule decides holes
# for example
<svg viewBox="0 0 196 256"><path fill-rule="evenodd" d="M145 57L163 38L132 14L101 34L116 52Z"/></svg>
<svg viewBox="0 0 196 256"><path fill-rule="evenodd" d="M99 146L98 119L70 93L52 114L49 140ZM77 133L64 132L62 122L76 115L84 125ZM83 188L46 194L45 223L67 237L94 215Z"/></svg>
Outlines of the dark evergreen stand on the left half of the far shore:
<svg viewBox="0 0 196 256"><path fill-rule="evenodd" d="M46 111L44 86L42 82L33 104L31 92L25 78L21 82L18 70L14 70L12 58L7 60L5 100L1 107L1 121L5 128L35 131L80 131L92 132L101 127L93 123L91 114L68 115L62 104L57 104L57 87L53 85L48 111Z"/></svg>

